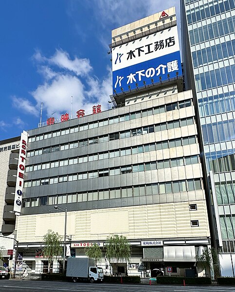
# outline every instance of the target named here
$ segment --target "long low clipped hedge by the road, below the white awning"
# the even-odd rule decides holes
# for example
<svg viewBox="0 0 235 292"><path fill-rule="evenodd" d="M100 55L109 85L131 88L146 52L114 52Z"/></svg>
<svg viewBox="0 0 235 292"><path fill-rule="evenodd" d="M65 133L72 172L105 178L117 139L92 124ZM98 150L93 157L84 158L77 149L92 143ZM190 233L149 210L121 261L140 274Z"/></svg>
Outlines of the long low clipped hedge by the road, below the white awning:
<svg viewBox="0 0 235 292"><path fill-rule="evenodd" d="M183 285L183 280L185 282L185 285L210 285L211 284L211 278L209 277L186 278L186 277L174 277L174 276L157 277L157 284Z"/></svg>

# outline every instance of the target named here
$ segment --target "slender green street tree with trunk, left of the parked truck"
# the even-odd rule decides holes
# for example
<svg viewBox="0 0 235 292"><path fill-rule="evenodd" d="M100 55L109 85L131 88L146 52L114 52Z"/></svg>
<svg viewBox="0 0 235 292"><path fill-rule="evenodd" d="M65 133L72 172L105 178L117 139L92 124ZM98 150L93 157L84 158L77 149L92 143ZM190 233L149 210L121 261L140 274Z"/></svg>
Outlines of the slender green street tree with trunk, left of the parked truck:
<svg viewBox="0 0 235 292"><path fill-rule="evenodd" d="M50 273L51 262L54 258L61 256L63 253L63 249L60 245L62 236L57 232L55 233L52 230L48 230L47 234L43 236L43 240L45 242L43 255L48 258L48 273Z"/></svg>

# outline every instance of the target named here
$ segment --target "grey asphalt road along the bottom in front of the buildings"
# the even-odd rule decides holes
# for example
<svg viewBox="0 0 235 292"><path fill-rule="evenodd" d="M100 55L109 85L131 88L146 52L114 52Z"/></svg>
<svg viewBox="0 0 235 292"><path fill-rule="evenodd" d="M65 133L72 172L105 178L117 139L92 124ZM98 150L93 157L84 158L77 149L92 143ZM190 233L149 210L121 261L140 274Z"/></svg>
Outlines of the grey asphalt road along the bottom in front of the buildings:
<svg viewBox="0 0 235 292"><path fill-rule="evenodd" d="M0 280L0 292L234 292L224 286L173 286L132 284L90 284L40 280Z"/></svg>

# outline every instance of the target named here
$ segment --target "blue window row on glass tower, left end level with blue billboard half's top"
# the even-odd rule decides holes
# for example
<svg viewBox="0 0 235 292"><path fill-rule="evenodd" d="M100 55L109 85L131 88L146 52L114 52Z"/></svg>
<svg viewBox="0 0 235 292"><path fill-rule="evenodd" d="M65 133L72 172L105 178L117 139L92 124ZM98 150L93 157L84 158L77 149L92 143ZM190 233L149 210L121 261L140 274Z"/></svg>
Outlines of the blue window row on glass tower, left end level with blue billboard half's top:
<svg viewBox="0 0 235 292"><path fill-rule="evenodd" d="M192 52L194 68L224 58L234 57L235 39Z"/></svg>

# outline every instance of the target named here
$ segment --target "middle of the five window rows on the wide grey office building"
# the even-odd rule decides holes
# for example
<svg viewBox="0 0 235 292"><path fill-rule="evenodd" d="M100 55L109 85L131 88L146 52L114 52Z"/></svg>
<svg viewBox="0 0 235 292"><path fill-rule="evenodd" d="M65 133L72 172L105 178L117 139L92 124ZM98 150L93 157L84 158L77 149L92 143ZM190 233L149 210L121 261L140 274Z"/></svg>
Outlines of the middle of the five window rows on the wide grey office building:
<svg viewBox="0 0 235 292"><path fill-rule="evenodd" d="M150 143L150 144L127 147L127 148L122 148L118 150L96 153L96 154L91 154L91 155L86 155L86 156L71 157L71 158L63 159L63 160L29 165L29 166L26 166L25 171L32 172L32 171L37 171L41 169L49 169L49 168L54 168L54 167L59 167L59 166L72 165L72 164L107 159L107 158L112 158L112 157L127 156L131 154L162 150L162 149L185 146L185 145L190 145L190 144L195 144L195 143L196 143L195 136L165 140L165 141L157 142L157 143Z"/></svg>

